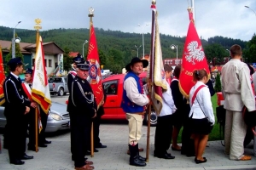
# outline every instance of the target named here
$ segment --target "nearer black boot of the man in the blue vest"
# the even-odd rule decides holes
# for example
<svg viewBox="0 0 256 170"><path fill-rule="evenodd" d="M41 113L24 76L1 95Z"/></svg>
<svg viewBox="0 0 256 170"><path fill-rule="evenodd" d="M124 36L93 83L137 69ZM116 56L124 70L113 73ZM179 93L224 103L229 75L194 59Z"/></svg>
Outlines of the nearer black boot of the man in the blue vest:
<svg viewBox="0 0 256 170"><path fill-rule="evenodd" d="M130 150L130 165L137 167L145 167L147 164L139 159L138 155L138 144L132 146L129 144Z"/></svg>

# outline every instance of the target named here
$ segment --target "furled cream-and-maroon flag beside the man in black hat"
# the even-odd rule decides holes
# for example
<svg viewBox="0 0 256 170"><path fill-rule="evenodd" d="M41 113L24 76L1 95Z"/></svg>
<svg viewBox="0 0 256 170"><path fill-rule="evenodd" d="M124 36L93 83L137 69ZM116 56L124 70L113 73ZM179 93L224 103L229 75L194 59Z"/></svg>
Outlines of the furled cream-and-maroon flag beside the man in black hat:
<svg viewBox="0 0 256 170"><path fill-rule="evenodd" d="M149 78L153 82L152 105L154 111L159 115L162 109L162 90L167 89L166 73L164 70L162 50L160 44L160 32L157 20L155 4L151 6L152 12L152 37L151 37L151 57L148 72Z"/></svg>

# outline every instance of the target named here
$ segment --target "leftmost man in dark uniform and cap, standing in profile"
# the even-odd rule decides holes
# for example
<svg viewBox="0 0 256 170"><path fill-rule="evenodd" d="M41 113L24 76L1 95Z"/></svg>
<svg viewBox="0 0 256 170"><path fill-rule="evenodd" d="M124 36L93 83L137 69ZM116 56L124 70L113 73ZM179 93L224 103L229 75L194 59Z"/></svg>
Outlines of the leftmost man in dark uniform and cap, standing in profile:
<svg viewBox="0 0 256 170"><path fill-rule="evenodd" d="M26 99L21 88L19 75L23 71L23 63L20 58L10 59L9 76L3 83L5 98L4 116L6 116L6 135L4 138L8 142L9 161L15 165L22 165L24 161L32 159L27 156L26 150L26 114L30 111L31 102Z"/></svg>

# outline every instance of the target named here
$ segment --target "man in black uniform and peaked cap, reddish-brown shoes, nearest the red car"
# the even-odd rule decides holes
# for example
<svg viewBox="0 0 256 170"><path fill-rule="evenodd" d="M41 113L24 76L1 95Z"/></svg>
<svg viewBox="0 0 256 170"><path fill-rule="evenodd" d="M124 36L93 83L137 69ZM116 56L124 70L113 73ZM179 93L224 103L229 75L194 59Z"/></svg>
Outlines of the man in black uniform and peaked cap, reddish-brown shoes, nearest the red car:
<svg viewBox="0 0 256 170"><path fill-rule="evenodd" d="M71 143L73 144L73 159L75 169L94 169L90 165L92 161L85 161L85 150L90 144L91 119L96 117L96 100L90 83L87 82L89 74L87 62L77 64L77 76L71 86L71 94L68 99L68 111L72 115Z"/></svg>

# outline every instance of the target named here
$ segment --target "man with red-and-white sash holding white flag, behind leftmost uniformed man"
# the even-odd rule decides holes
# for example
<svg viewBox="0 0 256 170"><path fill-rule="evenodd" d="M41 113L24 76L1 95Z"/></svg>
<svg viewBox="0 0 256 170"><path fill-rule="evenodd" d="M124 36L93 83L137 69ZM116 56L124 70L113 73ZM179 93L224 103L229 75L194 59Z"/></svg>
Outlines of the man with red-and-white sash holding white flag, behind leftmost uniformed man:
<svg viewBox="0 0 256 170"><path fill-rule="evenodd" d="M44 111L41 109L40 105L38 105L35 101L32 100L32 69L28 68L26 69L25 72L25 82L22 82L22 88L24 89L24 92L27 96L27 98L31 101L31 105L30 105L30 112L27 114L27 120L28 120L28 124L29 124L29 143L27 144L27 150L33 150L36 151L35 148L35 144L36 144L36 137L35 137L35 112L36 112L36 108L38 107L38 111L39 111L39 117L41 117L41 115L44 117L44 126L46 127L46 123L47 123L47 119L45 117L45 113ZM42 123L41 123L41 118L39 119L40 122L38 122L38 131L45 131L45 127L43 127ZM46 122L45 122L46 121ZM38 134L38 146L40 147L47 147L46 144L50 144L51 141L48 141L45 139L44 134L42 136L42 133Z"/></svg>

